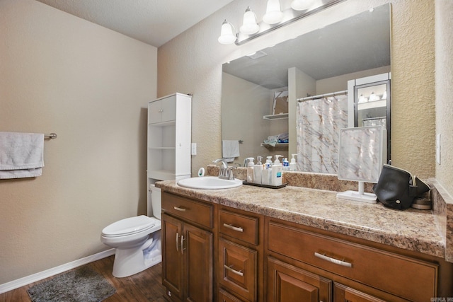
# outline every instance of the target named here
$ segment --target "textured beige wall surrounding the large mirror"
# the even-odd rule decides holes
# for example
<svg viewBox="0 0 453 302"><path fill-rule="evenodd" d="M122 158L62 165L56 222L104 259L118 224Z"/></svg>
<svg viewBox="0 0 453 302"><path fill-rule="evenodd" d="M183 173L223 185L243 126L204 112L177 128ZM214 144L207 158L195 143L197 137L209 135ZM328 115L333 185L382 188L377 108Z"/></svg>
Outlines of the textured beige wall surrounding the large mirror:
<svg viewBox="0 0 453 302"><path fill-rule="evenodd" d="M193 175L221 154L222 64L325 26L368 8L391 3L392 163L420 176L435 175L434 0L348 0L240 47L217 42L224 18L239 25L243 8L263 16L262 1L236 0L159 48L158 94L193 97Z"/></svg>

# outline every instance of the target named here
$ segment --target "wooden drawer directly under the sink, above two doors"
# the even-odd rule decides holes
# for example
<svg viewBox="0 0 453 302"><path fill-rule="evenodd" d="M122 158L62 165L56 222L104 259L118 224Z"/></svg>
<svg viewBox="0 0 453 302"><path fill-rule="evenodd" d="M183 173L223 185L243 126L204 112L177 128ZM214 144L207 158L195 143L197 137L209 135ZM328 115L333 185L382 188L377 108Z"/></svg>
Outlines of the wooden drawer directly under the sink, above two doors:
<svg viewBox="0 0 453 302"><path fill-rule="evenodd" d="M193 221L201 226L212 228L212 204L162 192L162 211Z"/></svg>

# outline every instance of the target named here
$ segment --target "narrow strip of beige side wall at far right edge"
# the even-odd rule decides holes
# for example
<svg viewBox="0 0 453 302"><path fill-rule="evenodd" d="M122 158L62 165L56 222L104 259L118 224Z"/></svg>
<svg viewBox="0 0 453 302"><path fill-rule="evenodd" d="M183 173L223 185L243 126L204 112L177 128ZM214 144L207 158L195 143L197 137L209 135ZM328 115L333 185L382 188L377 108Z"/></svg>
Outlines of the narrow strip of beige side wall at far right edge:
<svg viewBox="0 0 453 302"><path fill-rule="evenodd" d="M436 134L440 134L440 165L436 178L453 194L453 1L435 1Z"/></svg>

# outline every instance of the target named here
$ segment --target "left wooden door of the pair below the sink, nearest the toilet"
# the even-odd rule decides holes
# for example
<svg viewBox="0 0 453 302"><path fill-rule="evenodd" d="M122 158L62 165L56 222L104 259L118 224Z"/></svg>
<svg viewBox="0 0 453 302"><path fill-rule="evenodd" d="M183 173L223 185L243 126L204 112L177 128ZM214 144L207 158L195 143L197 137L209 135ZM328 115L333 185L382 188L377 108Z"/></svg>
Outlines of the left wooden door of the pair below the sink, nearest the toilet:
<svg viewBox="0 0 453 302"><path fill-rule="evenodd" d="M183 223L171 216L162 214L162 284L171 295L183 298L183 257L180 240Z"/></svg>

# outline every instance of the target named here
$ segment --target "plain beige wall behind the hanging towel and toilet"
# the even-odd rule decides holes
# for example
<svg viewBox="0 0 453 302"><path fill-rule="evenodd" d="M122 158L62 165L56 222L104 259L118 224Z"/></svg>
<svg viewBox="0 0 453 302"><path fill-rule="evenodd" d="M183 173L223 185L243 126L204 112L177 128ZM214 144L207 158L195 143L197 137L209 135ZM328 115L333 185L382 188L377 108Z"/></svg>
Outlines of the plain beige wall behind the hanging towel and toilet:
<svg viewBox="0 0 453 302"><path fill-rule="evenodd" d="M146 214L157 50L33 0L0 1L0 131L56 132L42 176L0 180L0 284L107 250Z"/></svg>

